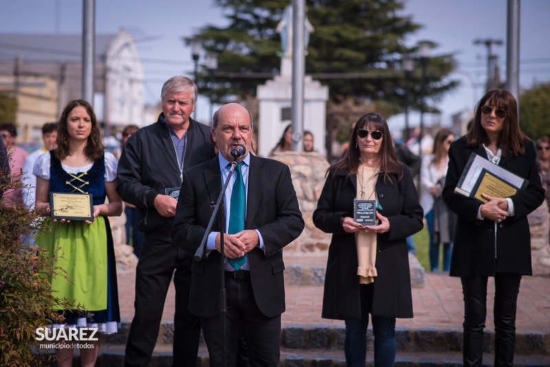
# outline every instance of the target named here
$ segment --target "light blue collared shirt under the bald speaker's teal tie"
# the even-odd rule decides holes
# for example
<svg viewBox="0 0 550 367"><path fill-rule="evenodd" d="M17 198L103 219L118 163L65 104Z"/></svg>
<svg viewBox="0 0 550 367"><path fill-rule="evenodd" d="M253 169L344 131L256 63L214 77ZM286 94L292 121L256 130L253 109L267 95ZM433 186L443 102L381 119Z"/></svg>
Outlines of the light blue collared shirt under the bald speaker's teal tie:
<svg viewBox="0 0 550 367"><path fill-rule="evenodd" d="M225 159L221 154L218 154L218 160L219 160L219 170L221 172L221 186L223 187L223 184L225 183L225 180L228 179L229 171L230 171L230 164L227 159ZM246 190L246 197L247 197L247 203L248 203L248 172L250 170L250 154L246 155L245 159L243 159L243 165L241 166L241 173L243 174L243 181L245 183L245 190ZM231 194L233 192L233 184L236 179L236 173L233 172L232 177L230 177L228 188L225 190L225 194L223 195L223 201L224 201L224 216L225 216L225 233L229 232L229 214L231 212ZM248 206L248 205L247 205ZM245 218L246 218L245 213ZM260 234L259 230L255 230L259 237L259 247L261 249L264 249L263 245L263 238ZM216 250L216 236L219 234L219 232L210 232L208 235L208 241L206 242L206 249L209 251ZM241 269L244 270L250 270L250 264L248 263L248 258L246 260L245 265ZM225 270L233 271L234 269L229 265L227 262L225 263Z"/></svg>

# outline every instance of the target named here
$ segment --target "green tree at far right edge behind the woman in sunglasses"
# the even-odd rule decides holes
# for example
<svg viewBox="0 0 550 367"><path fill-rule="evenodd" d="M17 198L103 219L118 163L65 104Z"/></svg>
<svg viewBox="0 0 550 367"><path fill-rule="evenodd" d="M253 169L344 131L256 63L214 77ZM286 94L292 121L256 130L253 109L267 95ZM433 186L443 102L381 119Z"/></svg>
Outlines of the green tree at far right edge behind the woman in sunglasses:
<svg viewBox="0 0 550 367"><path fill-rule="evenodd" d="M538 139L550 136L550 82L537 85L520 96L520 126L523 133Z"/></svg>

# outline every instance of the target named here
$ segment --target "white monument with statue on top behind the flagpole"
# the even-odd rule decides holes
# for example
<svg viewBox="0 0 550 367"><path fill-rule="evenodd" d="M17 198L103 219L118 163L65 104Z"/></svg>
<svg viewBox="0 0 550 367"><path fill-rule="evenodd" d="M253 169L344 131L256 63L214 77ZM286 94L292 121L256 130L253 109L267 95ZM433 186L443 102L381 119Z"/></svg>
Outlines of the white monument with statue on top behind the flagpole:
<svg viewBox="0 0 550 367"><path fill-rule="evenodd" d="M305 47L309 41L309 33L314 27L307 18L305 27ZM277 26L281 33L281 75L273 80L267 80L265 85L259 85L256 96L259 101L259 142L258 153L267 157L275 147L285 127L291 123L292 107L292 5L287 6L283 19ZM304 126L303 130L314 135L314 150L322 155L327 154L325 148L326 111L329 99L329 88L320 82L312 80L311 76L304 78Z"/></svg>

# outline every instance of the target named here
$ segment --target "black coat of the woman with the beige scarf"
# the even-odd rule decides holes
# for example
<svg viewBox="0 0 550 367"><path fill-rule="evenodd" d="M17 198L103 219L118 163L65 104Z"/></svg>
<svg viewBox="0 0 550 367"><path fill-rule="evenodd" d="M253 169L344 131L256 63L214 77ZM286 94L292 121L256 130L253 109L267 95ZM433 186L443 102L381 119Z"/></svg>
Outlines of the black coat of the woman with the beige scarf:
<svg viewBox="0 0 550 367"><path fill-rule="evenodd" d="M406 166L404 177L393 183L382 176L376 181L380 214L387 216L390 230L377 236L372 314L389 318L412 318L412 296L406 237L423 227L423 211L415 184ZM344 232L342 217L353 216L357 176L347 170L331 171L314 212L314 223L332 233L325 276L322 317L337 320L360 319L361 301L355 234Z"/></svg>

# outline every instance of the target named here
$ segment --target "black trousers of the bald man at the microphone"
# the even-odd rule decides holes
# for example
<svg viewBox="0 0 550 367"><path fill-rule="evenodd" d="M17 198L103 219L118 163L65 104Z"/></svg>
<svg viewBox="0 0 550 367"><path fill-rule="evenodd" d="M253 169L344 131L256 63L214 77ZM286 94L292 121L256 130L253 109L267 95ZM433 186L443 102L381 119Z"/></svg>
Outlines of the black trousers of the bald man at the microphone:
<svg viewBox="0 0 550 367"><path fill-rule="evenodd" d="M268 318L261 313L254 300L250 278L236 279L226 276L225 292L225 366L276 367L281 357L281 315ZM210 366L223 366L220 314L201 318L201 324L208 346ZM246 348L245 351L243 347ZM243 352L248 361L243 359Z"/></svg>

